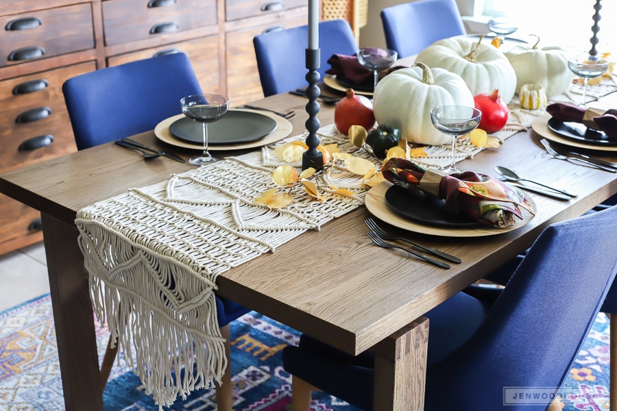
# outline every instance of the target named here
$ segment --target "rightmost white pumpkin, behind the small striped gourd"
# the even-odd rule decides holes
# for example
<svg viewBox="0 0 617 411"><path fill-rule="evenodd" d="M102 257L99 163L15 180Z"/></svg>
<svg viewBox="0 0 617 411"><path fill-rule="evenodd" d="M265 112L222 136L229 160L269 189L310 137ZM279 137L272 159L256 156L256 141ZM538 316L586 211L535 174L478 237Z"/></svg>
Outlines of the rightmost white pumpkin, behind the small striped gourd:
<svg viewBox="0 0 617 411"><path fill-rule="evenodd" d="M516 72L516 92L523 84L540 84L549 99L570 89L574 73L568 68L568 53L559 47L538 49L514 47L505 53Z"/></svg>

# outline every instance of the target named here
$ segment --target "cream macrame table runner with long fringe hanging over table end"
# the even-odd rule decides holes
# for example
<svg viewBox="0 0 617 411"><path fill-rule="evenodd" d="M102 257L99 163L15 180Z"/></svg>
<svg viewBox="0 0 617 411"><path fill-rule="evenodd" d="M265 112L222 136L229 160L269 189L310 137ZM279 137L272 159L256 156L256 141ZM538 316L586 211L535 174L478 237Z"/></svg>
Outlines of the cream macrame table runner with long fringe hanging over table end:
<svg viewBox="0 0 617 411"><path fill-rule="evenodd" d="M568 94L554 101L574 101ZM518 101L498 138L531 126L545 110L523 110ZM306 134L279 142L304 140ZM370 159L334 125L319 130L322 144ZM449 146L426 147L423 165L448 166ZM230 157L88 206L77 213L80 247L90 274L97 319L118 338L125 362L159 406L178 395L220 382L227 358L217 323L217 275L252 260L309 229L319 229L364 203L361 177L335 167L320 178L322 201L293 188L295 201L269 210L253 199L274 188L282 164L274 146ZM482 151L463 139L457 161ZM301 164L289 164L300 169ZM346 188L343 196L328 187ZM134 346L134 352L130 349ZM134 358L133 358L134 356ZM196 372L190 372L195 366ZM187 372L176 378L172 371Z"/></svg>

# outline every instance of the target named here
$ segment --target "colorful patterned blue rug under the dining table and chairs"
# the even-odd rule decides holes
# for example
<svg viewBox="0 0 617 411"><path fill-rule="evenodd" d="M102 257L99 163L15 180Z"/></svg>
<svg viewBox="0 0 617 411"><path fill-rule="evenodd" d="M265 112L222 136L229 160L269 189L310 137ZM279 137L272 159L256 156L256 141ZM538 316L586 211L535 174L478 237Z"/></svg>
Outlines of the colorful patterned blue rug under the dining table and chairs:
<svg viewBox="0 0 617 411"><path fill-rule="evenodd" d="M600 314L562 388L564 411L608 410L609 327ZM295 344L299 333L255 312L234 321L232 382L234 409L290 409L291 376L281 366L280 350ZM97 325L99 356L108 333ZM114 366L104 393L106 411L158 411L139 379ZM199 390L169 410L216 410L214 390ZM64 410L51 299L44 295L0 312L0 410ZM326 393L313 393L312 411L357 411Z"/></svg>

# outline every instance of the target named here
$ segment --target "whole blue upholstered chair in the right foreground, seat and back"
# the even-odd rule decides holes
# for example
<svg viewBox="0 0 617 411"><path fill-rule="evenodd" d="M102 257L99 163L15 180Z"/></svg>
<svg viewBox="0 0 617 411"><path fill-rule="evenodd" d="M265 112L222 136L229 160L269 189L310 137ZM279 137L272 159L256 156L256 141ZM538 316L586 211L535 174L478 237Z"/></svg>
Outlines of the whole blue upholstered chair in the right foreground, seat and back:
<svg viewBox="0 0 617 411"><path fill-rule="evenodd" d="M546 410L548 402L503 406L504 387L563 383L617 273L616 229L617 207L550 225L490 308L459 293L428 312L424 409ZM372 361L371 353L348 356L309 336L283 351L293 379L363 410L373 407Z"/></svg>

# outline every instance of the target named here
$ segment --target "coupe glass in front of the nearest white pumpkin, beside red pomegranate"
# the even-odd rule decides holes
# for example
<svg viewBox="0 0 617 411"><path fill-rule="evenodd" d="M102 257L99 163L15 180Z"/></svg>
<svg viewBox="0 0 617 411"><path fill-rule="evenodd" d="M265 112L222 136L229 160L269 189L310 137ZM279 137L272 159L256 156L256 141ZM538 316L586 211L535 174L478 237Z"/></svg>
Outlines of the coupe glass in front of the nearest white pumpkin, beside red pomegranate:
<svg viewBox="0 0 617 411"><path fill-rule="evenodd" d="M455 161L457 138L472 132L480 124L482 112L466 105L439 105L431 109L431 121L435 128L452 136L452 162L446 172L460 173Z"/></svg>

